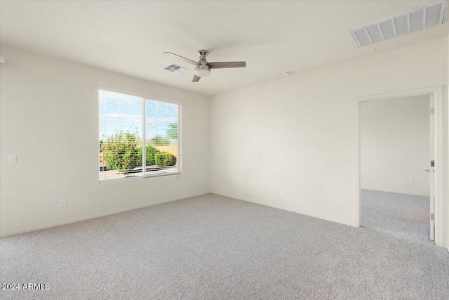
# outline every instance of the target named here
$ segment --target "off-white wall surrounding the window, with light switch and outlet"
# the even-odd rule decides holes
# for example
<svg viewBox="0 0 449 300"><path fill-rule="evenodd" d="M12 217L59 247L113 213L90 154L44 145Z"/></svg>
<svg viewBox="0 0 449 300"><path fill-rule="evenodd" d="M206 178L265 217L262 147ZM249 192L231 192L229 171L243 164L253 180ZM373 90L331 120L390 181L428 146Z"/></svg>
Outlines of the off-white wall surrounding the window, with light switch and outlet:
<svg viewBox="0 0 449 300"><path fill-rule="evenodd" d="M7 46L0 51L2 236L208 193L208 97ZM179 178L98 183L98 86L183 103ZM8 154L17 164L7 163Z"/></svg>

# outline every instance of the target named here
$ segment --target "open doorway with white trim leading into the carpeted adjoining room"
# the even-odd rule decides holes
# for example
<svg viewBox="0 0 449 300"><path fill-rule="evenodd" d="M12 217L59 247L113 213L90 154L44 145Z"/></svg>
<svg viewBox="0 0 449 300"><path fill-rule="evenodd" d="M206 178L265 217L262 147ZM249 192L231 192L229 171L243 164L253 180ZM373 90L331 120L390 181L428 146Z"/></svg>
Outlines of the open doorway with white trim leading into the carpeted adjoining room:
<svg viewBox="0 0 449 300"><path fill-rule="evenodd" d="M443 245L442 103L441 86L356 98L356 226Z"/></svg>

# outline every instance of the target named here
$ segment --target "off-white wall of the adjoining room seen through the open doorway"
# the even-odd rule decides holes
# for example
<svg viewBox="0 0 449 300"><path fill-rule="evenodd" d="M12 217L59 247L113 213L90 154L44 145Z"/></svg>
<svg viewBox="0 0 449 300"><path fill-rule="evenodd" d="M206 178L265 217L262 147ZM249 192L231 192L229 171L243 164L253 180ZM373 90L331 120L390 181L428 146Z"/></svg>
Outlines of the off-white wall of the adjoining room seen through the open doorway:
<svg viewBox="0 0 449 300"><path fill-rule="evenodd" d="M361 103L361 188L429 197L429 107L430 96Z"/></svg>

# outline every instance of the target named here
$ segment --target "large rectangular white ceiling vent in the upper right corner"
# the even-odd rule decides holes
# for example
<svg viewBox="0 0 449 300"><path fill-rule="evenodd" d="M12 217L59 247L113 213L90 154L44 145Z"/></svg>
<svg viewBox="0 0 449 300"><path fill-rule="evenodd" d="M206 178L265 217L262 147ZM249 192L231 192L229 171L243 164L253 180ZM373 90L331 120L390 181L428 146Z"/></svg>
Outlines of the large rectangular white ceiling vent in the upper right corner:
<svg viewBox="0 0 449 300"><path fill-rule="evenodd" d="M351 30L359 47L443 24L446 0L436 0Z"/></svg>

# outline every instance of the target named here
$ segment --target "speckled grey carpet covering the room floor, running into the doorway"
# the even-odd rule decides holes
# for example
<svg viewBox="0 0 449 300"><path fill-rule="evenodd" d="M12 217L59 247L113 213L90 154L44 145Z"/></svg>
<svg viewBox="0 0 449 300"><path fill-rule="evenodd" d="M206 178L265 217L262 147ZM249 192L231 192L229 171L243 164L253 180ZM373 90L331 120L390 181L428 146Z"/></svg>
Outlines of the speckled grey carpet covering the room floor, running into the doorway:
<svg viewBox="0 0 449 300"><path fill-rule="evenodd" d="M448 250L383 230L422 219L367 195L370 228L209 194L6 237L0 281L50 289L0 298L448 299Z"/></svg>

